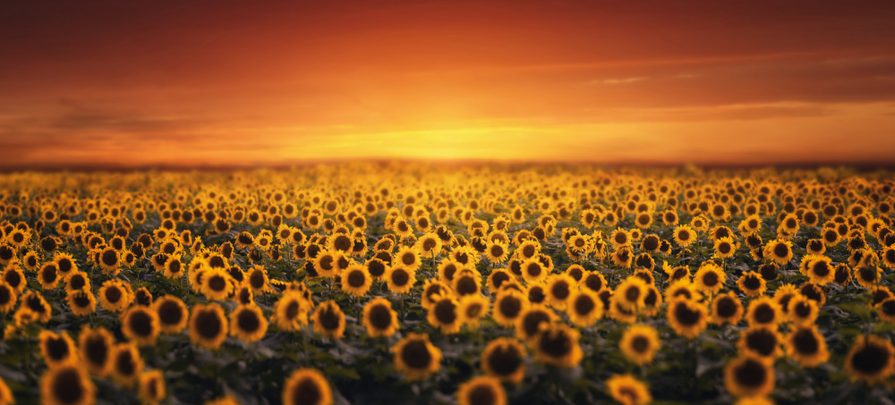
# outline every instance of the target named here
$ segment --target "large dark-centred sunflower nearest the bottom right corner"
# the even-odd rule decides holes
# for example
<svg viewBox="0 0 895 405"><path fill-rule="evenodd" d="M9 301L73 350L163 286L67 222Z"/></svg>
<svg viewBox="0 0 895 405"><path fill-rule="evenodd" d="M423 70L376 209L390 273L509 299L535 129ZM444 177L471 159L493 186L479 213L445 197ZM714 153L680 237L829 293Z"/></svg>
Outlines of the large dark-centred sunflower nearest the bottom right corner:
<svg viewBox="0 0 895 405"><path fill-rule="evenodd" d="M895 348L888 338L858 336L848 350L843 368L852 381L876 384L895 371Z"/></svg>

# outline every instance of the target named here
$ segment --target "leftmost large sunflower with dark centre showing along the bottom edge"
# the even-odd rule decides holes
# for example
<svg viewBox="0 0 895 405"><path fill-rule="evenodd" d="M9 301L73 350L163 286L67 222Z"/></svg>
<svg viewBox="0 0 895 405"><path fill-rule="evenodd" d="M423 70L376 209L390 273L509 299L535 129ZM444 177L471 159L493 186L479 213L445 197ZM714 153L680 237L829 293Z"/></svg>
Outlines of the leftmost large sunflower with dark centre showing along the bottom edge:
<svg viewBox="0 0 895 405"><path fill-rule="evenodd" d="M47 369L40 377L40 402L46 405L95 403L97 388L90 375L74 363Z"/></svg>

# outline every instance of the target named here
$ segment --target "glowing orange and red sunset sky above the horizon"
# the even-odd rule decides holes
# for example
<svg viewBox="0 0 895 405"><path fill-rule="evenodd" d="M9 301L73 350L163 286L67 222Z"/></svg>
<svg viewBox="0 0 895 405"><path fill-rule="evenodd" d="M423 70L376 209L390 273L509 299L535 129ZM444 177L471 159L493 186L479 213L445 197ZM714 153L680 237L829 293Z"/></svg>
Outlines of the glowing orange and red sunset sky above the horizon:
<svg viewBox="0 0 895 405"><path fill-rule="evenodd" d="M895 164L891 1L0 4L0 166Z"/></svg>

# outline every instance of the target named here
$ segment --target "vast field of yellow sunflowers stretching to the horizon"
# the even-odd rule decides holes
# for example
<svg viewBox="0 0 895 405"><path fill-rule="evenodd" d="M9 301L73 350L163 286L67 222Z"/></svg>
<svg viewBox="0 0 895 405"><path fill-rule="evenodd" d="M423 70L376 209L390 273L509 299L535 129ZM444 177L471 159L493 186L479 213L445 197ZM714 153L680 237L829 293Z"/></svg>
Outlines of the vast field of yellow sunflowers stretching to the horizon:
<svg viewBox="0 0 895 405"><path fill-rule="evenodd" d="M0 404L893 403L888 172L0 174Z"/></svg>

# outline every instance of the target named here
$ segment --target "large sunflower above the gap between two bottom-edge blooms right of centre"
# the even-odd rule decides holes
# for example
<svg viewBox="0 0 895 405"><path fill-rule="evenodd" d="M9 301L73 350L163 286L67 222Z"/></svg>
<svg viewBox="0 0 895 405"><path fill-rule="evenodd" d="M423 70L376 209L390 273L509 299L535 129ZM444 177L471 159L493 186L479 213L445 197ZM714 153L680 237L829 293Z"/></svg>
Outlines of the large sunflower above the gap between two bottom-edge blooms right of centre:
<svg viewBox="0 0 895 405"><path fill-rule="evenodd" d="M531 339L534 359L556 367L575 367L584 354L578 345L580 333L558 323L541 324Z"/></svg>

